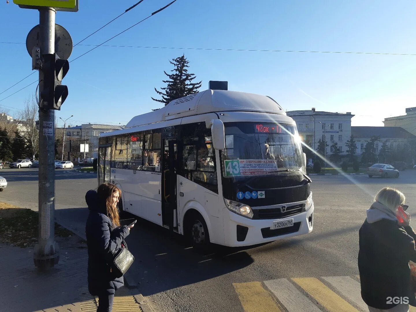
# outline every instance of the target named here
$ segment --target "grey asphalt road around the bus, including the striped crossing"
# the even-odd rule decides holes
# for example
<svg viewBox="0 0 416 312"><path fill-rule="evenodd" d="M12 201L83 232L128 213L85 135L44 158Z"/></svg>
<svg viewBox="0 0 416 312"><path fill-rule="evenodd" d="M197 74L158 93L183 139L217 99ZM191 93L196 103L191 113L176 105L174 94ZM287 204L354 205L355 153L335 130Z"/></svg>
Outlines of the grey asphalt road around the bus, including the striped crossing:
<svg viewBox="0 0 416 312"><path fill-rule="evenodd" d="M36 169L3 169L0 175L9 181L0 201L37 203ZM79 235L87 215L84 194L96 181L57 172L57 218ZM312 233L251 248L215 248L211 255L139 220L127 238L136 258L130 273L158 311L365 311L356 277L365 210L380 188L392 186L404 192L413 216L415 182L416 171L410 170L397 179L314 177ZM288 291L300 300L287 301Z"/></svg>

